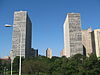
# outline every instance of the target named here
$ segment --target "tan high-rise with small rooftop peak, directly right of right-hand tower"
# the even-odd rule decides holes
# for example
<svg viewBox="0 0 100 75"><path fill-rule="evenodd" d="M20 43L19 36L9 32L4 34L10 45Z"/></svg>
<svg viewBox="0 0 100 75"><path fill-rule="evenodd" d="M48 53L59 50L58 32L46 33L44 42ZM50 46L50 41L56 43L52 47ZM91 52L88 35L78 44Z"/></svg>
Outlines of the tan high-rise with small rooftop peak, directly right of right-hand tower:
<svg viewBox="0 0 100 75"><path fill-rule="evenodd" d="M91 28L88 28L87 30L82 30L83 51L84 55L86 56L89 56L91 53L93 53L91 33Z"/></svg>

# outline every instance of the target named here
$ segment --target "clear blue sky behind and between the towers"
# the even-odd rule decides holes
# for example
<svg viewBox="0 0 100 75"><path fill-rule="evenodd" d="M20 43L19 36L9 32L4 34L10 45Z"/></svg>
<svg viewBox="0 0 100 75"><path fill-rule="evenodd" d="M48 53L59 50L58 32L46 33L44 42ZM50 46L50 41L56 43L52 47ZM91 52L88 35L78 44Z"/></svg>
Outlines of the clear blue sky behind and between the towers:
<svg viewBox="0 0 100 75"><path fill-rule="evenodd" d="M45 55L51 48L53 56L63 49L63 24L67 13L80 13L82 29L100 29L100 0L0 0L0 57L12 49L15 11L28 11L32 21L32 48Z"/></svg>

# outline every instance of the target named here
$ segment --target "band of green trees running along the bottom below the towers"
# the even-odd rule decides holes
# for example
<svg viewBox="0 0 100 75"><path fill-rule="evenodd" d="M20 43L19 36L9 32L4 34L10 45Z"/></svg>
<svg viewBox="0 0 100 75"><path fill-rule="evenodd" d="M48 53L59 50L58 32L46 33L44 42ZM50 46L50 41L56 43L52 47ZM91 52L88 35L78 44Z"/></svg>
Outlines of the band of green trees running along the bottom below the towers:
<svg viewBox="0 0 100 75"><path fill-rule="evenodd" d="M14 60L14 70L18 71L18 57ZM91 54L85 57L76 54L73 57L38 56L22 60L22 73L27 75L100 75L100 59Z"/></svg>

